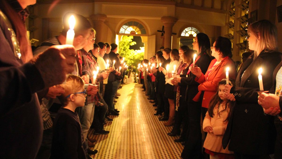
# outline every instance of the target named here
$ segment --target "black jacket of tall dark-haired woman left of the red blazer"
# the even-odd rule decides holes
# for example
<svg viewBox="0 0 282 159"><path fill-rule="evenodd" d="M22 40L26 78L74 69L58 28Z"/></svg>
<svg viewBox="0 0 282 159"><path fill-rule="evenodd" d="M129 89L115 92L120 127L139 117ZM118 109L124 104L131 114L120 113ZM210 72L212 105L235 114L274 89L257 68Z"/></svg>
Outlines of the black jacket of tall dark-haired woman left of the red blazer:
<svg viewBox="0 0 282 159"><path fill-rule="evenodd" d="M199 60L195 63L195 65L198 65L198 67L201 68L201 71L203 74L206 74L208 67L210 65L211 62L211 58L209 55L207 54L203 54ZM188 77L182 77L181 78L181 83L183 85L187 85L186 88L186 101L187 102L194 102L193 98L196 96L196 94L199 92L198 91L198 86L199 83L195 81L195 78L197 76L195 76L194 74L192 74L191 72L188 74Z"/></svg>

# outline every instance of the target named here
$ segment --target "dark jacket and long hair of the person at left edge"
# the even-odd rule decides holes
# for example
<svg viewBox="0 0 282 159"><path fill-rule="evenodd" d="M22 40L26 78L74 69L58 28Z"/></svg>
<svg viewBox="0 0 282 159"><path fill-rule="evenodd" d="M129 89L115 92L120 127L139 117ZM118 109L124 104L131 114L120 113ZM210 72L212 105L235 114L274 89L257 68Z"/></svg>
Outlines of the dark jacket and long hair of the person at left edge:
<svg viewBox="0 0 282 159"><path fill-rule="evenodd" d="M0 11L6 15L0 15L0 158L29 159L36 157L42 141L43 121L36 92L44 88L44 81L28 62L32 50L25 23L16 10L23 8L17 1L13 7L8 2L12 1L0 0ZM16 40L12 40L14 34ZM16 41L19 45L13 45ZM20 48L20 59L14 46Z"/></svg>

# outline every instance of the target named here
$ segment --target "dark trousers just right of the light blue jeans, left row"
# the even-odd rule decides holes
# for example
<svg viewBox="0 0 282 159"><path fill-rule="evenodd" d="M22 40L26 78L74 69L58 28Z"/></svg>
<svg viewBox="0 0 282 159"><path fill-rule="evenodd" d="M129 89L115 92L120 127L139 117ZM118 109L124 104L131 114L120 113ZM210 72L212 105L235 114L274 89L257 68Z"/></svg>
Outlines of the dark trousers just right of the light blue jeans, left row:
<svg viewBox="0 0 282 159"><path fill-rule="evenodd" d="M105 121L105 114L107 113L107 110L108 110L108 105L106 104L106 102L103 99L101 99L100 102L103 103L104 105L95 106L95 109L94 109L94 118L92 122L92 127L95 130L103 129L103 123Z"/></svg>

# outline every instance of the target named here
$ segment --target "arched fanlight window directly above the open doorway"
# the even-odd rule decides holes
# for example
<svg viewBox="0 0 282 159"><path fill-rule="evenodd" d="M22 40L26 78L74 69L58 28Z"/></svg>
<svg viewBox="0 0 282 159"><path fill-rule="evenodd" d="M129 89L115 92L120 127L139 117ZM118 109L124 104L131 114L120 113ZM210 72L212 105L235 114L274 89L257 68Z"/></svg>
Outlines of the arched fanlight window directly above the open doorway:
<svg viewBox="0 0 282 159"><path fill-rule="evenodd" d="M119 33L121 34L146 34L146 29L144 26L138 22L130 21L122 25Z"/></svg>

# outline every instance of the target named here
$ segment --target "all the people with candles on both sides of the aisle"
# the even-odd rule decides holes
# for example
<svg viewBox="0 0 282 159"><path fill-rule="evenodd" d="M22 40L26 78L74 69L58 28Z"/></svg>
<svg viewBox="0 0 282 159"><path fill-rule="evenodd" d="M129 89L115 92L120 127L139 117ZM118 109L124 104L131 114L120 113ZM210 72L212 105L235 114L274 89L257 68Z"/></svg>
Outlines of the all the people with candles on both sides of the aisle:
<svg viewBox="0 0 282 159"><path fill-rule="evenodd" d="M282 158L282 54L268 20L249 25L253 53L238 67L228 38L211 46L198 33L193 50L165 48L144 59L137 78L133 69L125 73L115 43L95 43L84 16L65 14L61 34L32 50L24 22L35 1L0 1L0 158L91 158L98 150L87 133L110 133L103 125L119 115L125 75L143 84L155 115L173 126L168 135L180 135L182 158ZM75 36L65 45L71 15Z"/></svg>

